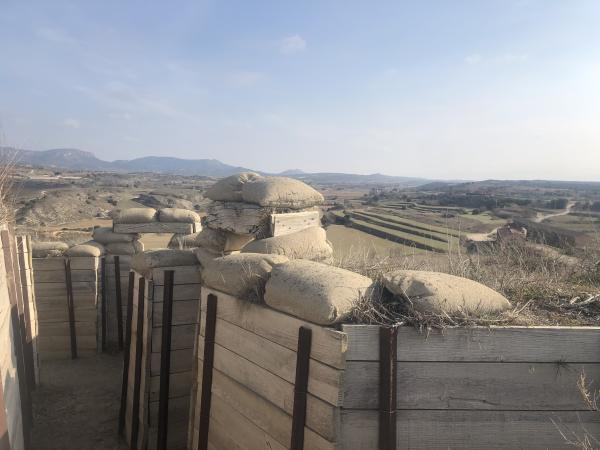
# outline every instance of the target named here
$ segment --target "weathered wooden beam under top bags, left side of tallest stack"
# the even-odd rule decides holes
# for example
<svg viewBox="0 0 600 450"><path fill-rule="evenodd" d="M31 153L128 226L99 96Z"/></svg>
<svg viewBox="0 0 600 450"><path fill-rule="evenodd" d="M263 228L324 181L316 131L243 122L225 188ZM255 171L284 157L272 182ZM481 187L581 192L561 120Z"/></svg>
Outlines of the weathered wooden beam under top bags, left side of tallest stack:
<svg viewBox="0 0 600 450"><path fill-rule="evenodd" d="M248 203L212 202L208 205L203 224L215 230L266 237L273 211L273 208Z"/></svg>

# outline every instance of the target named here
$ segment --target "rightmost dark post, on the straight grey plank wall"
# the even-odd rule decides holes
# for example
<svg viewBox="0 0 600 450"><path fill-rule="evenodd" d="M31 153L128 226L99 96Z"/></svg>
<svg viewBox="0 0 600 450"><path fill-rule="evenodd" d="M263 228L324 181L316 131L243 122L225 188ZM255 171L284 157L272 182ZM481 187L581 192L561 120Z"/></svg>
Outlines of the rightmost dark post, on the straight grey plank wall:
<svg viewBox="0 0 600 450"><path fill-rule="evenodd" d="M379 450L396 449L398 327L379 329Z"/></svg>

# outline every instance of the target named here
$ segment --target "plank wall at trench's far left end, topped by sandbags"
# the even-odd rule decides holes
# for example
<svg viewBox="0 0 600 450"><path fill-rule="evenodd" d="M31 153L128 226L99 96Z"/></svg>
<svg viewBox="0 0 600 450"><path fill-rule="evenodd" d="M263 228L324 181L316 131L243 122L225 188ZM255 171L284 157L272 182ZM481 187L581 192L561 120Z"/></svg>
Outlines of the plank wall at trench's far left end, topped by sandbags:
<svg viewBox="0 0 600 450"><path fill-rule="evenodd" d="M62 250L66 244L42 244L33 245L36 250L32 260L39 357L42 360L70 358L74 350L78 357L90 356L100 349L99 261L104 248L93 241L66 251ZM61 256L55 256L58 249L63 252ZM67 259L70 264L75 341L71 339L67 301Z"/></svg>

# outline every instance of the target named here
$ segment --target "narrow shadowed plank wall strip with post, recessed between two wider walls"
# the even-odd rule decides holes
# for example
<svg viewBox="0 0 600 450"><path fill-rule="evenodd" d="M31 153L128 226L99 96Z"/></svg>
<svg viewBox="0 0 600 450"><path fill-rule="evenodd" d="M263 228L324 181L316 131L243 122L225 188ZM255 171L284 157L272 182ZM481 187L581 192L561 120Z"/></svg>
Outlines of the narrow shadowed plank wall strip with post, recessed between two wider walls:
<svg viewBox="0 0 600 450"><path fill-rule="evenodd" d="M127 319L127 292L129 289L129 269L131 266L131 256L119 255L119 268L121 272L121 317L123 324ZM108 351L117 351L119 343L117 326L117 294L115 284L115 263L114 255L106 255L106 348ZM123 326L125 333L125 326Z"/></svg>

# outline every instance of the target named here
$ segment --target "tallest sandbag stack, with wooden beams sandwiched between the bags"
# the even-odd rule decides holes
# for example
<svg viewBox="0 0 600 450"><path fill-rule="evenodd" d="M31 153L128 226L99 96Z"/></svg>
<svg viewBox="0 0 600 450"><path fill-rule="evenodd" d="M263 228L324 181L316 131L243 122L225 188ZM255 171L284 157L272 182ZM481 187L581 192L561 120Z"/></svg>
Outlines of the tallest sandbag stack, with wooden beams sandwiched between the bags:
<svg viewBox="0 0 600 450"><path fill-rule="evenodd" d="M218 181L205 196L212 203L203 219L203 231L194 237L196 247L205 254L216 257L241 250L289 258L331 256L325 233L319 231L316 206L323 203L323 196L301 181L246 172ZM274 218L279 216L286 216L294 227L281 225L282 231L276 233ZM298 243L294 236L281 240L284 234L296 234L307 228L316 229L297 235ZM272 240L259 243L266 239Z"/></svg>

